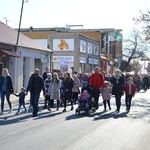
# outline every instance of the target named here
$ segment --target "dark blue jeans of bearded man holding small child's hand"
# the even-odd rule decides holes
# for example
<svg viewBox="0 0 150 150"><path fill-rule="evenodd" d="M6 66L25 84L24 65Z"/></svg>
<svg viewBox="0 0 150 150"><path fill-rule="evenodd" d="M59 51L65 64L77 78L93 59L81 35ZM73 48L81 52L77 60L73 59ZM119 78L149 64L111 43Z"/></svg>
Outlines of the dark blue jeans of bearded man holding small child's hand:
<svg viewBox="0 0 150 150"><path fill-rule="evenodd" d="M30 93L31 94L31 105L33 106L33 115L36 115L38 113L38 103L39 103L39 97L40 93Z"/></svg>

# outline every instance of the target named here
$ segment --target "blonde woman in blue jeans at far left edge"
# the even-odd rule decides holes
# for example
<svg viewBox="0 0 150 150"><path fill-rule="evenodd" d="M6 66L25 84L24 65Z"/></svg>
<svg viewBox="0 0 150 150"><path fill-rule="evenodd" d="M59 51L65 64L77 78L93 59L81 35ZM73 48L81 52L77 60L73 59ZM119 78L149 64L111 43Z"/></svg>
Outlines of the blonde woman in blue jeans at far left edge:
<svg viewBox="0 0 150 150"><path fill-rule="evenodd" d="M0 91L1 91L1 112L0 115L3 114L4 111L4 101L5 101L5 96L6 100L9 105L9 113L12 112L12 105L10 101L10 94L14 92L13 86L12 86L12 79L11 76L9 75L9 71L7 68L3 68L2 70L2 76L0 77Z"/></svg>

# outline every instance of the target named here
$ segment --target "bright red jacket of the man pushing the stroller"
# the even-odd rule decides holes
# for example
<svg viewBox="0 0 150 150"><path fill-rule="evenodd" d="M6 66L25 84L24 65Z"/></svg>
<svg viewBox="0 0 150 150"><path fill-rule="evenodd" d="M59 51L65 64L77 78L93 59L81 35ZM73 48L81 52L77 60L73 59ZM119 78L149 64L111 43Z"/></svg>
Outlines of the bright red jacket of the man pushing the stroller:
<svg viewBox="0 0 150 150"><path fill-rule="evenodd" d="M90 76L89 84L95 89L101 88L104 84L104 76L101 73L94 73Z"/></svg>

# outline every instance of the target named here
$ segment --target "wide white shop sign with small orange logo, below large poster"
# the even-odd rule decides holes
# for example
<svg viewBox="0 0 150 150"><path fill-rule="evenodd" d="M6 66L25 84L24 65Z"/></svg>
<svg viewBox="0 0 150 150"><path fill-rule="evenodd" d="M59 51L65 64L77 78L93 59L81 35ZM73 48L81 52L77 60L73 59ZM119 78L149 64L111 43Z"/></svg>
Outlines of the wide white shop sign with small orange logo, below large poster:
<svg viewBox="0 0 150 150"><path fill-rule="evenodd" d="M74 62L74 56L53 56L53 62Z"/></svg>

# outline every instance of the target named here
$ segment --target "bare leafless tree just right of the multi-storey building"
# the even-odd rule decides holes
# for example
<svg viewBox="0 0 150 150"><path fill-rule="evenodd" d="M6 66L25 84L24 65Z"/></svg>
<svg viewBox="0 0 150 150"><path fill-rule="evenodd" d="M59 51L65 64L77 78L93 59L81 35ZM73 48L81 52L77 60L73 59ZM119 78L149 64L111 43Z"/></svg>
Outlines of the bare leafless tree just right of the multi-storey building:
<svg viewBox="0 0 150 150"><path fill-rule="evenodd" d="M126 70L132 60L140 60L145 58L147 54L147 43L143 42L141 33L133 29L129 37L123 42L123 57L126 60L126 64L123 66L122 71Z"/></svg>

